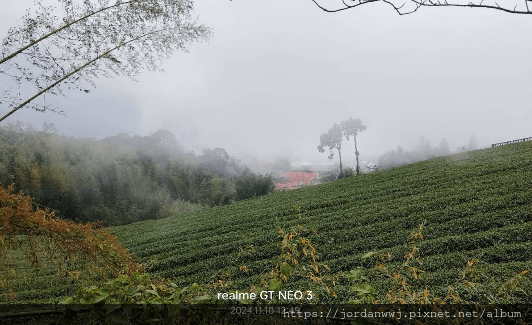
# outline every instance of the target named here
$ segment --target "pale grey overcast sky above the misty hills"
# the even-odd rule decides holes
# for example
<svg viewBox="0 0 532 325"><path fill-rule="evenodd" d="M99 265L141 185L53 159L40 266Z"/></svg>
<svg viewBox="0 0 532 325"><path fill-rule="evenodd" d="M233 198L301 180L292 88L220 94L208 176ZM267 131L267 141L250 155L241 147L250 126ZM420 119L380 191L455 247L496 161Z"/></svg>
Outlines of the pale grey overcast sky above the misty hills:
<svg viewBox="0 0 532 325"><path fill-rule="evenodd" d="M0 3L3 38L32 1ZM532 15L399 16L384 3L325 13L311 0L198 0L195 12L213 37L175 54L165 73L99 79L90 94L58 101L68 117L27 109L6 121L96 138L167 129L196 152L316 163L328 163L320 134L350 117L367 126L358 142L370 161L421 137L455 149L473 135L480 147L532 136ZM353 165L352 142L344 148Z"/></svg>

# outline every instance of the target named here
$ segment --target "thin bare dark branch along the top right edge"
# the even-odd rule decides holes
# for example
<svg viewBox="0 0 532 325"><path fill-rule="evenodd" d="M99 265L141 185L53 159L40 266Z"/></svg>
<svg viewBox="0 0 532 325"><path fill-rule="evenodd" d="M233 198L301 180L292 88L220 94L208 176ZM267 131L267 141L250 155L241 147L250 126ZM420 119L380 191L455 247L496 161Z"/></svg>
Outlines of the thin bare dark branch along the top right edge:
<svg viewBox="0 0 532 325"><path fill-rule="evenodd" d="M340 7L326 8L320 0L312 0L320 9L326 12L339 12L352 9L367 3L385 2L391 5L399 15L407 15L416 12L421 7L465 7L495 9L513 14L532 14L529 2L532 0L503 1L502 6L496 0L338 0ZM531 6L532 7L532 6Z"/></svg>

